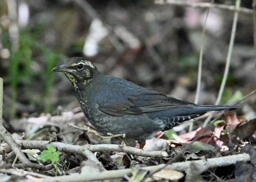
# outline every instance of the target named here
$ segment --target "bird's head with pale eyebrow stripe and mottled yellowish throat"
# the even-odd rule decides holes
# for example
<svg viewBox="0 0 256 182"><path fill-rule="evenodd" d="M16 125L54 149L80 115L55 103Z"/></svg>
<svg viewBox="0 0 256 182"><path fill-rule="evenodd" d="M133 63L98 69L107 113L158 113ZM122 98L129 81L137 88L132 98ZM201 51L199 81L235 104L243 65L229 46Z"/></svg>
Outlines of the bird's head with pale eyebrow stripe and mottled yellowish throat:
<svg viewBox="0 0 256 182"><path fill-rule="evenodd" d="M84 57L69 58L64 64L54 67L52 71L65 73L75 90L78 89L78 84L85 86L89 83L93 74L98 72L96 66Z"/></svg>

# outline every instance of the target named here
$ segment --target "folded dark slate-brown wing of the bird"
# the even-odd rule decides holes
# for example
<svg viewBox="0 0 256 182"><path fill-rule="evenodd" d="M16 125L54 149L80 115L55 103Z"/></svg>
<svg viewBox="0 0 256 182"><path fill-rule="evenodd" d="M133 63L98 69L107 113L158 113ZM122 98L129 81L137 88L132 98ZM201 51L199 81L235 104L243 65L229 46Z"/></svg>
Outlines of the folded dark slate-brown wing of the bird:
<svg viewBox="0 0 256 182"><path fill-rule="evenodd" d="M154 112L173 107L194 105L180 99L167 97L162 93L151 89L140 89L132 94L124 94L121 91L104 91L99 94L99 110L105 114L121 116L125 114L141 114L142 112Z"/></svg>

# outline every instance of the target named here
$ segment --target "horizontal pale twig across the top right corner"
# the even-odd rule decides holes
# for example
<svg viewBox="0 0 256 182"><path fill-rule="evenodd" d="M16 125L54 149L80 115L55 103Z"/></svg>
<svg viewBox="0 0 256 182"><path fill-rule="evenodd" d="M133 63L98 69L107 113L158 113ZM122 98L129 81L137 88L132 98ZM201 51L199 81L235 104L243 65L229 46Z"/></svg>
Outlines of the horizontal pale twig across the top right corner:
<svg viewBox="0 0 256 182"><path fill-rule="evenodd" d="M190 7L195 7L195 8L198 8L198 7L209 8L211 6L212 8L219 8L222 10L228 10L228 11L243 13L243 14L247 14L247 15L253 14L253 11L248 8L244 8L244 7L236 8L236 6L230 6L230 5L225 5L225 4L211 5L211 3L198 3L198 2L194 3L191 1L183 1L183 0L156 0L155 4L161 4L161 5L170 4L170 5L175 5L175 6L190 6Z"/></svg>

